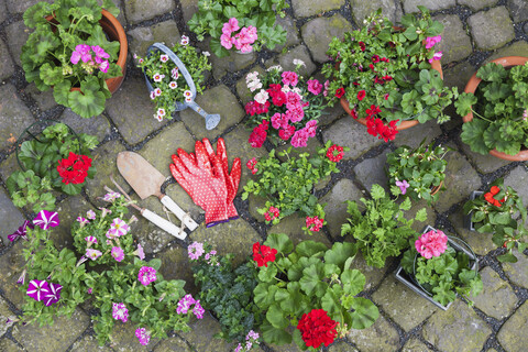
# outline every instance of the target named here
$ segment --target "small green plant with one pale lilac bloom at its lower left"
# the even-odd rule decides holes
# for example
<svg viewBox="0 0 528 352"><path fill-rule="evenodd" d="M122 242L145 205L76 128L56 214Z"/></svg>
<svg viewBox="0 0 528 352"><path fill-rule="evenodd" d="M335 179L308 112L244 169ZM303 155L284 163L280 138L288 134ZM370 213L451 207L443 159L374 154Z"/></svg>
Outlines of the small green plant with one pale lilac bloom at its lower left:
<svg viewBox="0 0 528 352"><path fill-rule="evenodd" d="M446 178L448 162L443 158L450 147L425 145L424 140L417 148L400 146L387 154L388 179L392 193L415 200L438 200L438 193Z"/></svg>

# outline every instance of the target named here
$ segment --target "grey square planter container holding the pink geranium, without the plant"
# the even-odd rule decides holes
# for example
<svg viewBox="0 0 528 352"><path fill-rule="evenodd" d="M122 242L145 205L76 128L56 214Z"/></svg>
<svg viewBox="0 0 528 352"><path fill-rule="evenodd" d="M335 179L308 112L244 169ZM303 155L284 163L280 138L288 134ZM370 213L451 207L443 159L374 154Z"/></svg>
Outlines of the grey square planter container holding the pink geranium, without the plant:
<svg viewBox="0 0 528 352"><path fill-rule="evenodd" d="M435 228L432 228L430 226L427 226L426 229L422 231L422 233L426 233L426 232L431 231L431 230L436 231ZM468 256L470 257L471 270L472 271L477 271L479 270L479 266L477 266L479 265L479 260L476 258L476 255L473 253L473 251L471 250L471 248L469 245L468 245L468 249L464 249L464 246L457 243L457 241L460 241L460 242L464 243L464 245L468 245L465 242L463 242L460 239L448 237L449 245L451 248L453 248L457 252L464 252L465 254L468 254ZM427 290L425 290L418 284L418 282L415 279L415 277L413 275L407 274L404 271L404 268L402 267L402 265L398 265L398 268L396 270L395 276L396 276L396 279L399 280L402 284L404 284L405 286L407 286L408 288L410 288L411 290L417 293L419 296L429 300L431 304L433 304L435 306L437 306L438 308L440 308L442 310L448 310L448 308L451 307L451 305L453 304L451 301L447 306L442 306L441 304L439 304L438 301L432 299L432 295L430 293L428 293Z"/></svg>

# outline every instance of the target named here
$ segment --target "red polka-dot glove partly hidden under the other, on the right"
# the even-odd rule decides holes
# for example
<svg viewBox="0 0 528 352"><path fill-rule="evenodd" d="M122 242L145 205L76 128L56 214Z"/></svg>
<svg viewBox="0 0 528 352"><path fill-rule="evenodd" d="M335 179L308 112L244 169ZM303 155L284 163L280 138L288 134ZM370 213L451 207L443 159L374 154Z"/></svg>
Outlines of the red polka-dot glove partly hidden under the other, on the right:
<svg viewBox="0 0 528 352"><path fill-rule="evenodd" d="M223 177L226 179L226 189L227 189L227 207L228 207L228 217L230 220L239 218L237 208L234 207L233 199L237 197L237 191L239 190L240 176L242 174L242 166L240 157L235 157L233 161L233 166L231 167L231 174L229 173L229 163L228 163L228 153L226 151L226 142L223 139L219 139L217 142L217 154L212 150L211 143L209 140L204 139L204 145L206 147L207 154L209 155L209 161L212 164L219 163L222 170Z"/></svg>

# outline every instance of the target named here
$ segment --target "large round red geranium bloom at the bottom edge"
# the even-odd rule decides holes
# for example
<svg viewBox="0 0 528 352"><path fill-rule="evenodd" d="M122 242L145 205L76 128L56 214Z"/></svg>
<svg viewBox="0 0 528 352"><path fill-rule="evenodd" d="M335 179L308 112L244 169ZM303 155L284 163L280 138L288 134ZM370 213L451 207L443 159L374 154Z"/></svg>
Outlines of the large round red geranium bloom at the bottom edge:
<svg viewBox="0 0 528 352"><path fill-rule="evenodd" d="M297 329L302 334L302 341L307 346L319 348L322 343L328 346L333 342L338 332L338 322L330 319L323 309L312 309L309 314L302 315Z"/></svg>

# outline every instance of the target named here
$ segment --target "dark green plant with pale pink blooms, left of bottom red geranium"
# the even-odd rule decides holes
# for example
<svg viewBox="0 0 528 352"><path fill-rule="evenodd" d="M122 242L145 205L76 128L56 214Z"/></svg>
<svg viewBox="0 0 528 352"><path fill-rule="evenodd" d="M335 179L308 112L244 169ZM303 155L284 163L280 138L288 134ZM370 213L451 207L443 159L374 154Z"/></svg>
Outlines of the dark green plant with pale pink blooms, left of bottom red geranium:
<svg viewBox="0 0 528 352"><path fill-rule="evenodd" d="M188 254L201 305L218 318L222 328L217 337L238 342L237 352L257 346L260 337L255 330L264 315L253 301L253 289L258 283L254 263L233 268L232 254L217 255L209 244L200 242L190 244Z"/></svg>

